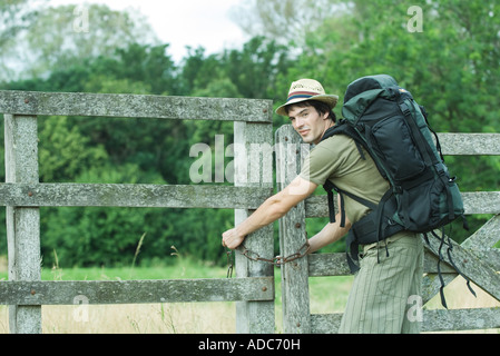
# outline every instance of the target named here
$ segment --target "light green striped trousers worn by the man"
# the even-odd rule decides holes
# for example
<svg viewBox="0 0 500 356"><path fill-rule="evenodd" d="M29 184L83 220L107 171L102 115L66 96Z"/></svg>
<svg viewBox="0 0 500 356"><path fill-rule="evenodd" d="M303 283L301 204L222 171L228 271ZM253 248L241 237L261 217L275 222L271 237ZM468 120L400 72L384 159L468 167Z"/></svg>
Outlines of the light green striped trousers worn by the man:
<svg viewBox="0 0 500 356"><path fill-rule="evenodd" d="M422 300L420 235L403 231L379 245L364 246L360 267L339 333L420 333L421 314L415 310L421 308Z"/></svg>

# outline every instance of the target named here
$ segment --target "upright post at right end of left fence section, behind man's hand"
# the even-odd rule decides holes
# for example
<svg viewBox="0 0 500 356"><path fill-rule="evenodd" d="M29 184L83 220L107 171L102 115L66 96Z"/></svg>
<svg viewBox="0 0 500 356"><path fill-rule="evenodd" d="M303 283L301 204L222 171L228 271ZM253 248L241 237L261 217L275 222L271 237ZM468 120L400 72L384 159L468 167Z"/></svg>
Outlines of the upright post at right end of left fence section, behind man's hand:
<svg viewBox="0 0 500 356"><path fill-rule="evenodd" d="M268 151L272 150L272 130L271 123L234 123L235 186L273 187L273 155ZM242 222L252 212L253 210L236 209L235 225ZM261 257L273 258L273 226L269 225L251 234L244 245ZM235 265L236 277L239 278L274 276L272 265L249 260L241 254L236 254ZM272 334L274 325L274 300L236 303L236 333Z"/></svg>

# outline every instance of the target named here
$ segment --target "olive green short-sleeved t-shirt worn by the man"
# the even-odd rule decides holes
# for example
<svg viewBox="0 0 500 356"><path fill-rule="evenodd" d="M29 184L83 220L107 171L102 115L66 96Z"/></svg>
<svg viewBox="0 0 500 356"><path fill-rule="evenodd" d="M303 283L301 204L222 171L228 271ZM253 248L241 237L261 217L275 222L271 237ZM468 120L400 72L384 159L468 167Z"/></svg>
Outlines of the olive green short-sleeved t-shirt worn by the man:
<svg viewBox="0 0 500 356"><path fill-rule="evenodd" d="M378 204L389 189L373 159L364 151L363 159L355 142L335 135L316 145L304 160L300 176L316 185L330 179L336 187L357 197ZM354 224L370 209L344 195L345 214Z"/></svg>

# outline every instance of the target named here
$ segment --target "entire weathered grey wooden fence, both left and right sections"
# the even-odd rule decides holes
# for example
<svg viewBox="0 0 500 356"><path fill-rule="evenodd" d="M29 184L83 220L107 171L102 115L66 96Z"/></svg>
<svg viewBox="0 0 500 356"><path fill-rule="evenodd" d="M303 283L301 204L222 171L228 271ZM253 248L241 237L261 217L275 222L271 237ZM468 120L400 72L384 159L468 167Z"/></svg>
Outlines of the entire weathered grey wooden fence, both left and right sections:
<svg viewBox="0 0 500 356"><path fill-rule="evenodd" d="M267 179L273 162L265 155L252 155L255 145L276 148L278 188L295 177L304 151L290 126L277 130L273 146L269 100L0 91L0 112L6 128L6 182L0 184L0 205L7 208L9 260L9 280L0 283L0 304L9 305L11 333L41 333L41 305L73 305L81 296L89 304L234 300L237 333L275 332L273 266L241 254L236 254L237 278L231 279L52 281L40 276L41 206L232 208L236 224L245 219L273 194L273 182ZM244 148L245 159L235 159L234 186L40 184L37 116L234 121L235 145ZM441 134L440 140L447 155L500 155L497 134ZM500 192L465 192L463 199L467 214L494 217L461 246L454 246L455 263L500 299L500 254L492 248L499 240ZM305 218L326 216L326 200L321 196L294 207L280 222L281 255L290 256L303 246ZM273 241L269 226L252 234L245 245L273 259ZM425 259L424 303L439 288L432 249ZM447 283L457 277L451 267L444 271ZM308 278L347 274L344 254L315 254L282 266L284 332L335 333L342 314L311 315ZM498 327L499 309L424 312L424 330Z"/></svg>

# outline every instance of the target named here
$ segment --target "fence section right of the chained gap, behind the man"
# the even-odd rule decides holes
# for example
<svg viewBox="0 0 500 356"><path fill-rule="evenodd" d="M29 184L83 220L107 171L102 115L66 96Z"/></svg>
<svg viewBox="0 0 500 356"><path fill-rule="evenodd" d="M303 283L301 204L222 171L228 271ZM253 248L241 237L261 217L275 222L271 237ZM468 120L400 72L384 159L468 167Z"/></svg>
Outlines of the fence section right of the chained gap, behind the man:
<svg viewBox="0 0 500 356"><path fill-rule="evenodd" d="M440 134L443 155L500 155L499 134ZM300 136L291 126L276 131L278 150L277 175L281 186L288 184L301 168L307 146L301 146ZM280 145L282 144L282 145ZM283 149L284 148L284 149ZM295 152L293 156L291 152ZM493 245L500 240L500 191L476 191L462 194L465 214L493 214L487 224L461 245L453 244L453 261L476 285L500 300L500 249ZM280 244L282 255L296 251L306 239L305 219L327 217L325 196L313 196L297 205L281 221ZM437 251L439 243L430 239L425 244L425 263L422 304L425 305L439 293L441 283L437 278ZM448 259L447 259L448 260ZM443 264L445 284L458 274ZM345 254L313 254L282 267L283 327L285 333L336 333L342 314L311 314L308 278L350 275ZM468 291L469 293L469 291ZM332 296L334 297L334 296ZM464 308L423 310L423 332L469 330L500 328L500 308Z"/></svg>

